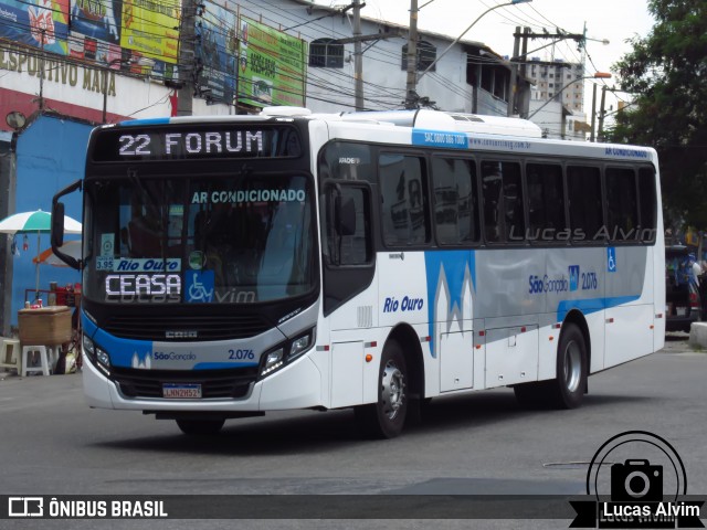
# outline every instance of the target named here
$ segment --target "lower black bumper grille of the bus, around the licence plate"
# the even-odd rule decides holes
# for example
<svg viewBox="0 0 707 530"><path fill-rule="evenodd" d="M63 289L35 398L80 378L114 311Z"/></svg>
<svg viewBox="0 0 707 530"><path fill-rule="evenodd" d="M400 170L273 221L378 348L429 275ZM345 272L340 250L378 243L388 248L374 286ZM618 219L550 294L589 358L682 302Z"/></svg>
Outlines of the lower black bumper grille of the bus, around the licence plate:
<svg viewBox="0 0 707 530"><path fill-rule="evenodd" d="M234 370L134 370L113 369L112 379L126 398L162 398L165 383L199 383L202 399L238 399L247 394L257 378L257 367Z"/></svg>

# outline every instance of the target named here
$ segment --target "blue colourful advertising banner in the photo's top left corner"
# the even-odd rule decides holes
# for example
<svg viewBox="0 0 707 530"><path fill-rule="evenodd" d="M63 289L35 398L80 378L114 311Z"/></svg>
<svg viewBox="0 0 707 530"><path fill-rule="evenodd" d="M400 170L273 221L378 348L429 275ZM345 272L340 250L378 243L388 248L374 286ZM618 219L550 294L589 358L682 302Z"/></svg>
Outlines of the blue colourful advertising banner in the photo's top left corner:
<svg viewBox="0 0 707 530"><path fill-rule="evenodd" d="M68 0L0 0L0 38L66 55Z"/></svg>

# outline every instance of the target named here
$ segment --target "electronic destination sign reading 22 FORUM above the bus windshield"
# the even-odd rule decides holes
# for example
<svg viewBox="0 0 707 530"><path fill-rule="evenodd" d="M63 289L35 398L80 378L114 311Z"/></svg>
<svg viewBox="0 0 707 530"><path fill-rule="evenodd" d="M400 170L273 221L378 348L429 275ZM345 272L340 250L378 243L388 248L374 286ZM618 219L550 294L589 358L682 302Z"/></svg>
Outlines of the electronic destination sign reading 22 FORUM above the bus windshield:
<svg viewBox="0 0 707 530"><path fill-rule="evenodd" d="M99 131L94 161L284 158L302 153L294 127L118 127Z"/></svg>

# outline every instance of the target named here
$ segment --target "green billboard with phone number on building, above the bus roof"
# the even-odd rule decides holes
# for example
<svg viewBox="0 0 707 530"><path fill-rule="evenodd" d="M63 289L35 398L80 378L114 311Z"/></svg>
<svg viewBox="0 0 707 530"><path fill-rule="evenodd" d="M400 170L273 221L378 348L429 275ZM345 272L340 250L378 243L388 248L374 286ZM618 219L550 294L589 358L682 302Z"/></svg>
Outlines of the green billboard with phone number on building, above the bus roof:
<svg viewBox="0 0 707 530"><path fill-rule="evenodd" d="M239 103L304 106L305 41L241 17Z"/></svg>

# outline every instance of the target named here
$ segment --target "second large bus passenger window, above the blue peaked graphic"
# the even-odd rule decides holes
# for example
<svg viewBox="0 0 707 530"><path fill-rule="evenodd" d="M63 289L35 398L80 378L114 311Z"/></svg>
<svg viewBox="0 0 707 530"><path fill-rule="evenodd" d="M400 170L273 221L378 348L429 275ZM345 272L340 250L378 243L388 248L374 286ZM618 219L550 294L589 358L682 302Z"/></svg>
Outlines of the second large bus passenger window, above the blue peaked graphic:
<svg viewBox="0 0 707 530"><path fill-rule="evenodd" d="M474 161L434 158L432 181L437 241L449 245L478 241Z"/></svg>

